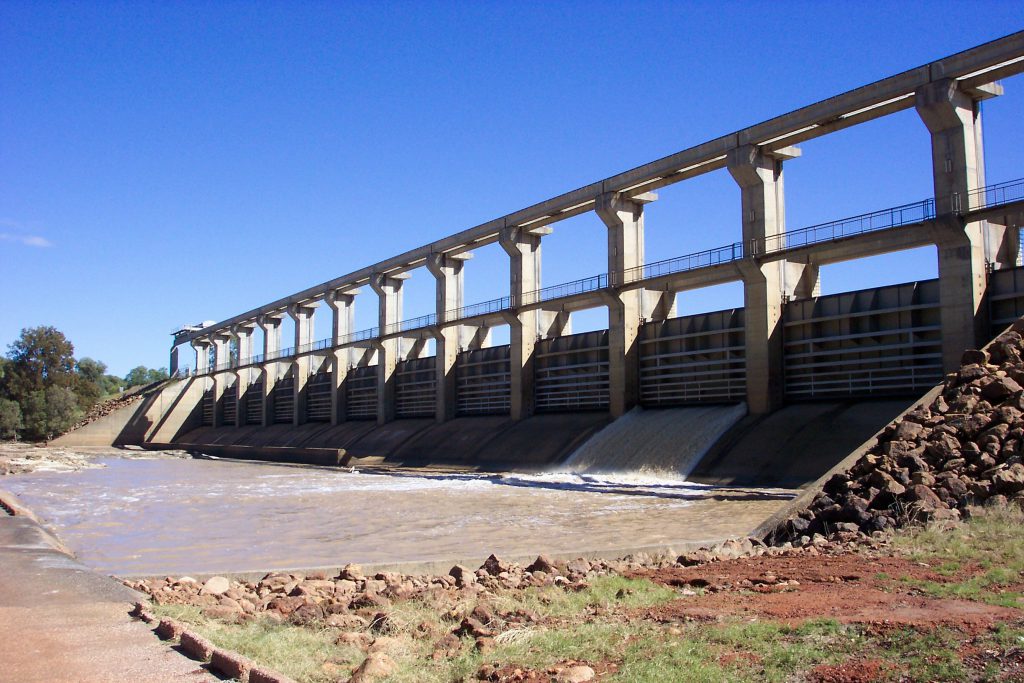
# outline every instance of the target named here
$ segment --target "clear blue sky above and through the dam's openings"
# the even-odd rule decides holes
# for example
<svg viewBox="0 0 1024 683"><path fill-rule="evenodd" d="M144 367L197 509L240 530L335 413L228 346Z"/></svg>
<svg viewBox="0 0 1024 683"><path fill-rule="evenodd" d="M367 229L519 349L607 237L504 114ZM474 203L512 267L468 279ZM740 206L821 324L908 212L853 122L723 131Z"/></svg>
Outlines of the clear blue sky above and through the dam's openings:
<svg viewBox="0 0 1024 683"><path fill-rule="evenodd" d="M1024 25L1019 2L0 1L0 347L53 325L124 374L222 319ZM1024 176L1024 78L985 103L990 182ZM898 114L803 145L791 228L927 198ZM725 171L660 191L648 260L739 236ZM602 271L555 225L544 283ZM935 275L934 250L822 271L825 293ZM406 315L433 281L408 283ZM504 295L497 247L466 300ZM376 297L357 299L359 328ZM741 303L688 293L680 312ZM327 311L317 337L328 334ZM603 311L575 330L604 327Z"/></svg>

